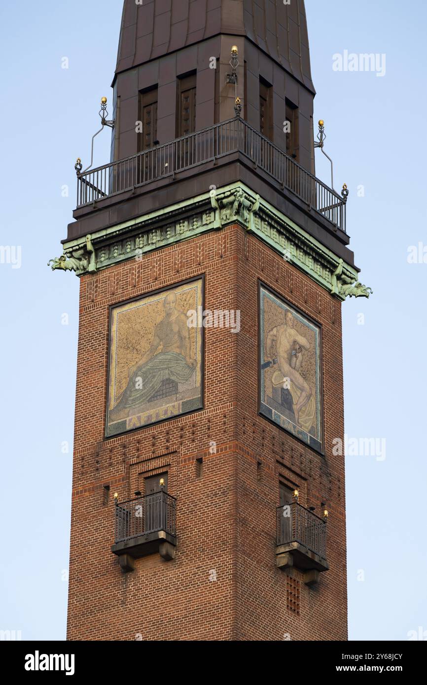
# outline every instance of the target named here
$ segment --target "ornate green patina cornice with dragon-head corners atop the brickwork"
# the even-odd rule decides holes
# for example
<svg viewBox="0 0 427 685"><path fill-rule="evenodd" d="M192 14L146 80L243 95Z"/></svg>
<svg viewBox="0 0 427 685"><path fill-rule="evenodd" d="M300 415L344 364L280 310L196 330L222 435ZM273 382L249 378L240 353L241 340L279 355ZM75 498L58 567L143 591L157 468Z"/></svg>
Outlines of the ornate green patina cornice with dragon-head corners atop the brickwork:
<svg viewBox="0 0 427 685"><path fill-rule="evenodd" d="M369 297L372 292L358 282L354 267L241 182L66 242L51 268L79 276L93 273L235 222L335 297Z"/></svg>

